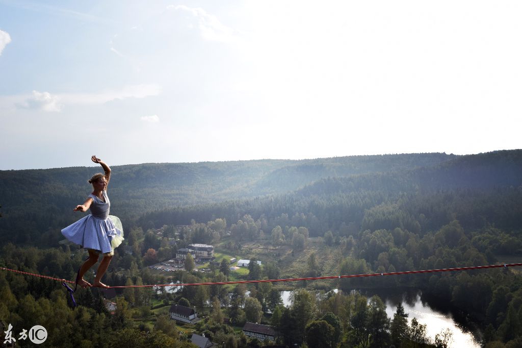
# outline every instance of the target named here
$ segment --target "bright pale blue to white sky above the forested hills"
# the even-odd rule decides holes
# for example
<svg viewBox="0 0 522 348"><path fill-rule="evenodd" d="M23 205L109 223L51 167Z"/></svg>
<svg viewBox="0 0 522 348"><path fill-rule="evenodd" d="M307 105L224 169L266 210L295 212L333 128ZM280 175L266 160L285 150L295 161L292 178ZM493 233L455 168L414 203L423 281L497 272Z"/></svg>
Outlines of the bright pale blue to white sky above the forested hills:
<svg viewBox="0 0 522 348"><path fill-rule="evenodd" d="M0 0L0 170L522 148L522 2Z"/></svg>

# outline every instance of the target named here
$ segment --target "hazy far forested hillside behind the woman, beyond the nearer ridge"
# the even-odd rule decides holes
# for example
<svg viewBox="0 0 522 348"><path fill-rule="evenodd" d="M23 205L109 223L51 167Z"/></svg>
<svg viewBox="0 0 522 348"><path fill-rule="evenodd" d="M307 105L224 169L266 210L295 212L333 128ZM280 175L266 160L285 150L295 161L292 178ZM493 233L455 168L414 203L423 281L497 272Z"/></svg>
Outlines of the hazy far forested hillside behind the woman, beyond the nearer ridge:
<svg viewBox="0 0 522 348"><path fill-rule="evenodd" d="M131 227L146 212L277 195L322 178L432 167L453 158L458 157L407 154L113 166L111 211L127 224L124 227ZM85 200L91 190L87 179L99 170L76 167L0 171L4 215L0 243L55 245L59 230L78 219L72 207Z"/></svg>

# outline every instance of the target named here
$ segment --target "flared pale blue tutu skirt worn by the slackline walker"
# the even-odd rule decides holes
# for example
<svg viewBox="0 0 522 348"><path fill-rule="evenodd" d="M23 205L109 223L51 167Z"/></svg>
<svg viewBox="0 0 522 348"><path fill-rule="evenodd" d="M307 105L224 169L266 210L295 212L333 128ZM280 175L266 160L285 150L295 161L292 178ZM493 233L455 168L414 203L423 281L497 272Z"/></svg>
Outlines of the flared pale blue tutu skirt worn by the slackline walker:
<svg viewBox="0 0 522 348"><path fill-rule="evenodd" d="M123 241L123 227L120 219L109 215L106 219L87 215L72 225L62 229L64 237L81 248L112 253Z"/></svg>

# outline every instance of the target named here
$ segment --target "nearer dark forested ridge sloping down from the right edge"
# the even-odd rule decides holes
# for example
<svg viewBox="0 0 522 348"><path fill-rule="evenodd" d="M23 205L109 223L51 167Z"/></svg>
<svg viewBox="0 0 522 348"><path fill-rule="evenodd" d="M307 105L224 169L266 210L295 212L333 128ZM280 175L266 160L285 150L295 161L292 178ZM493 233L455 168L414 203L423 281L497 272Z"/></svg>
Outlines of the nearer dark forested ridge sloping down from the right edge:
<svg viewBox="0 0 522 348"><path fill-rule="evenodd" d="M436 230L453 219L467 228L519 229L522 151L458 156L432 167L323 178L286 194L154 211L143 215L138 224L149 228L216 217L235 222L246 214L266 219L268 231L283 223L278 221L281 216L305 216L300 224L310 229L311 236L348 225L355 231L398 226L410 231Z"/></svg>

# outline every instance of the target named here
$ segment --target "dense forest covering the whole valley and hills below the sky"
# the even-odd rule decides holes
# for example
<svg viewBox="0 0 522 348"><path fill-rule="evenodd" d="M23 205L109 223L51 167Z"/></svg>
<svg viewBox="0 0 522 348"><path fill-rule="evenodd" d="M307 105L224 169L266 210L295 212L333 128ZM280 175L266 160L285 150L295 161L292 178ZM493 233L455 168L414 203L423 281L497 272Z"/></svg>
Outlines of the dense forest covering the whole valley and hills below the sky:
<svg viewBox="0 0 522 348"><path fill-rule="evenodd" d="M106 275L111 285L522 262L522 150L112 170L111 214L122 219L125 241ZM86 180L93 172L0 171L0 266L74 279L85 254L60 244L60 229L79 218L72 208L90 193ZM205 265L207 272L187 265L168 276L147 268L190 243L212 244L223 257L257 259L262 266L251 263L248 272L233 273L226 264ZM448 346L446 333L430 340L422 324L407 321L404 308L398 306L390 320L378 296L353 291L406 287L464 312L481 328L483 346L522 345L518 268L386 278L293 284L289 307L282 306L280 285L271 283L177 293L126 289L109 314L96 289L81 289L73 310L60 283L0 272L0 321L3 331L8 323L45 323L48 331L67 332L67 344L50 333L56 346L190 346L185 331L191 330L231 347ZM159 312L175 303L197 308L205 320L176 327ZM277 342L247 339L236 330L246 321L271 325Z"/></svg>

